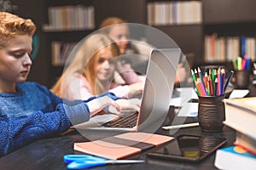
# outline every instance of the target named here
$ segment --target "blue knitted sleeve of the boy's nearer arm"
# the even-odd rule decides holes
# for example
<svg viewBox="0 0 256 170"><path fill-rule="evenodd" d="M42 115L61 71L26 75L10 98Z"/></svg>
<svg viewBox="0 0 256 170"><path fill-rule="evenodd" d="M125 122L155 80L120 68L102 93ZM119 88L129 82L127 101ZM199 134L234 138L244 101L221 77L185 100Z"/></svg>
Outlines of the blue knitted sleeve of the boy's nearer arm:
<svg viewBox="0 0 256 170"><path fill-rule="evenodd" d="M23 118L0 117L0 156L21 146L66 131L72 124L90 119L88 106L84 103L67 106L57 105L53 112L36 111Z"/></svg>

